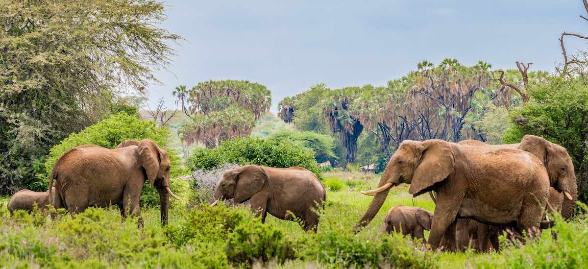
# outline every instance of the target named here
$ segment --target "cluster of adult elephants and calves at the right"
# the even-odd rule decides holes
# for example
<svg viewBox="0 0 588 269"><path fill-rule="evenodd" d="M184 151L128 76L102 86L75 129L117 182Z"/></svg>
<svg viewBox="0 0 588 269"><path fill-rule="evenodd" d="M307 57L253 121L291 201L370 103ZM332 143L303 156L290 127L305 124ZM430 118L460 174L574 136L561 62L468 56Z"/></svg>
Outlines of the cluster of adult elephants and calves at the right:
<svg viewBox="0 0 588 269"><path fill-rule="evenodd" d="M390 187L410 184L409 193L431 193L435 212L397 206L386 216L386 231L422 238L430 230L433 248L474 246L497 249L497 236L530 237L552 226L546 212L574 213L577 185L567 150L542 137L526 135L517 144L488 145L475 140L404 141L390 157L374 196L355 230L366 226L386 200Z"/></svg>

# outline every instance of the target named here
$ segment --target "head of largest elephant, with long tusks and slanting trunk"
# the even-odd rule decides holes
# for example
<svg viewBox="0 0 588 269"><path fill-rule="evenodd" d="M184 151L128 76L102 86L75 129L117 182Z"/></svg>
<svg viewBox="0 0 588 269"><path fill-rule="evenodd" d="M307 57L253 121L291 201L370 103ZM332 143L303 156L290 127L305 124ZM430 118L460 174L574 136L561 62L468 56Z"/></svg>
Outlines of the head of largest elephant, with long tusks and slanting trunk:
<svg viewBox="0 0 588 269"><path fill-rule="evenodd" d="M425 142L405 140L390 157L378 188L362 191L374 198L355 230L372 221L386 200L390 187L407 183L410 184L409 193L417 196L432 189L433 185L446 179L452 172L453 153L449 143L438 139Z"/></svg>

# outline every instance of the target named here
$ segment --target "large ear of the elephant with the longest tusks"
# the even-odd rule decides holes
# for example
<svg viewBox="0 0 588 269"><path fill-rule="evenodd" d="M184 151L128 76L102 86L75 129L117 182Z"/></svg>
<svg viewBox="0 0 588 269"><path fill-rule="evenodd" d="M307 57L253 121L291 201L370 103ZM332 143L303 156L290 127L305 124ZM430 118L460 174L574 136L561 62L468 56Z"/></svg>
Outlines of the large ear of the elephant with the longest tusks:
<svg viewBox="0 0 588 269"><path fill-rule="evenodd" d="M439 139L426 140L417 150L420 151L417 153L420 162L417 162L409 189L413 196L425 192L453 172L453 152L449 143Z"/></svg>

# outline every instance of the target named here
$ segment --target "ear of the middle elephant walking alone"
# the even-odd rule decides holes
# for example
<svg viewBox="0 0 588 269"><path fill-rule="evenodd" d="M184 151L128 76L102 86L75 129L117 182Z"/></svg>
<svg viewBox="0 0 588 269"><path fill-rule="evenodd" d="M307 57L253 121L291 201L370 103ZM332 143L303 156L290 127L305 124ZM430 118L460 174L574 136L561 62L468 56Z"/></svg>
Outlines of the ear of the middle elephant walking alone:
<svg viewBox="0 0 588 269"><path fill-rule="evenodd" d="M242 203L263 187L268 175L260 166L243 166L237 174L235 203Z"/></svg>

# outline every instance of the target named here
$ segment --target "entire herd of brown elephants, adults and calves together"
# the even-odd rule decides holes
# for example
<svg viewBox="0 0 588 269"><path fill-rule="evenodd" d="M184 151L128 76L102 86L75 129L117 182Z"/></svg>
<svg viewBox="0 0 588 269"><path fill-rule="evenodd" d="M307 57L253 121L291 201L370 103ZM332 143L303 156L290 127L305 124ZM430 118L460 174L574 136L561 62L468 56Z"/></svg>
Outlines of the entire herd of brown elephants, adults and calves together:
<svg viewBox="0 0 588 269"><path fill-rule="evenodd" d="M52 204L70 213L90 206L118 205L126 217L133 214L142 226L139 199L145 181L159 193L161 222L167 223L169 154L151 140L126 140L116 149L94 145L75 147L55 164L45 193L22 190L9 201L9 210ZM55 181L55 187L53 186ZM517 144L489 145L475 140L450 143L405 140L390 157L373 196L354 230L369 224L386 200L391 187L410 185L413 196L429 192L434 212L396 206L385 217L384 229L422 238L433 248L497 249L497 236L536 236L550 227L546 212L564 218L574 213L577 186L567 150L542 137L527 135ZM273 168L248 165L222 174L214 193L219 200L250 201L257 216L269 213L282 220L296 220L305 230L319 223L316 209L323 207L326 191L318 177L302 167ZM430 230L428 240L424 231Z"/></svg>

